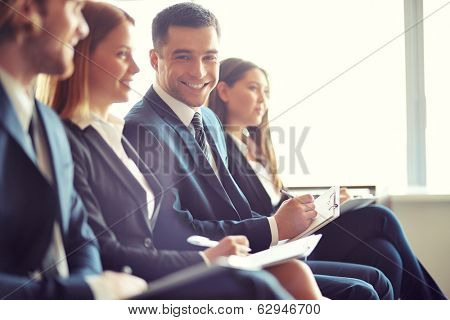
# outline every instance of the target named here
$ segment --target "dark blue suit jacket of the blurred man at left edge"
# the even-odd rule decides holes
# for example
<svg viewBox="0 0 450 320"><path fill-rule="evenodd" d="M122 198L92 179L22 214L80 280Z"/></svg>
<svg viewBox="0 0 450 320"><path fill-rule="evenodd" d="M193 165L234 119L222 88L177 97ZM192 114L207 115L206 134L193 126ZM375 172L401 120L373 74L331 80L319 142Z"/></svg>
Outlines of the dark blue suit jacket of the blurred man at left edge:
<svg viewBox="0 0 450 320"><path fill-rule="evenodd" d="M84 276L101 271L86 212L73 188L73 163L64 128L56 114L36 102L44 127L54 183L37 167L35 153L0 84L0 298L93 298ZM53 239L54 221L61 226L70 277L31 281L42 268Z"/></svg>

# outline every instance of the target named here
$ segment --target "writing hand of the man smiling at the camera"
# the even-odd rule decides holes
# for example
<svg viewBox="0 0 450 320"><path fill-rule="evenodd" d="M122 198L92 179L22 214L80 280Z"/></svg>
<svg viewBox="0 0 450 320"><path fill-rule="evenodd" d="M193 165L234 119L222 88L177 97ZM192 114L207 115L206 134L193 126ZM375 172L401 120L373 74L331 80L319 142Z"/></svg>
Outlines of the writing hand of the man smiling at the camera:
<svg viewBox="0 0 450 320"><path fill-rule="evenodd" d="M314 197L310 194L284 201L274 215L279 240L291 239L302 233L316 216Z"/></svg>

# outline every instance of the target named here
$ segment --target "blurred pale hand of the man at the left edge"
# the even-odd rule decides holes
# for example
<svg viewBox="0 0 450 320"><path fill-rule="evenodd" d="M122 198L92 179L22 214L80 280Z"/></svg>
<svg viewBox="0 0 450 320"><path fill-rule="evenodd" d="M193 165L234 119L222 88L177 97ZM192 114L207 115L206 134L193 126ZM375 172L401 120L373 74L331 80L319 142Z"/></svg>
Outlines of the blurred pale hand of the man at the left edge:
<svg viewBox="0 0 450 320"><path fill-rule="evenodd" d="M148 287L143 279L126 273L105 271L91 277L102 287L102 292L108 294L107 297L100 297L104 299L126 299L144 292Z"/></svg>

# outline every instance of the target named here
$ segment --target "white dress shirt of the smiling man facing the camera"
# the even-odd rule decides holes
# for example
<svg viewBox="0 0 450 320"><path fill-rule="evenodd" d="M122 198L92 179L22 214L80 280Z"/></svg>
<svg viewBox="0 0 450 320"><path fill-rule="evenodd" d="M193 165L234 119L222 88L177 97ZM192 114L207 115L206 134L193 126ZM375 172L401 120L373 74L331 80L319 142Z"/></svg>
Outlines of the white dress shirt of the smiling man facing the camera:
<svg viewBox="0 0 450 320"><path fill-rule="evenodd" d="M192 122L192 119L194 118L194 114L196 112L199 112L200 115L202 114L201 113L202 107L191 108L188 105L186 105L185 103L178 101L177 99L175 99L174 97L169 95L167 92L165 92L158 85L157 82L155 82L153 84L153 89L158 94L158 96L172 109L172 111L175 112L175 114L181 120L181 122L186 127L188 127L191 134L193 136L195 136L195 130L194 130L194 127L192 126L191 122ZM217 171L217 165L216 165L214 157L212 156L211 147L209 145L208 139L206 139L206 146L207 146L207 150L209 153L209 160L210 160L211 166L212 166L214 172L216 173L217 178L220 181L220 177L219 177L219 174ZM273 246L278 243L278 226L277 226L277 222L274 217L269 217L268 222L269 222L269 227L270 227L270 233L272 235L271 246Z"/></svg>

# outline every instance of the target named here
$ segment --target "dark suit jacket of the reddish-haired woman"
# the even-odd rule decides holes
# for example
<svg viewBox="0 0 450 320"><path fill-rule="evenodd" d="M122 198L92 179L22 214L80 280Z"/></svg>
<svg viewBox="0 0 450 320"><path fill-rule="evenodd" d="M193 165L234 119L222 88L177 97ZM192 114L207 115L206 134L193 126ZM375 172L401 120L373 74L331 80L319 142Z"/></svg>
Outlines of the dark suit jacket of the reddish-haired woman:
<svg viewBox="0 0 450 320"><path fill-rule="evenodd" d="M151 281L203 262L195 251L155 248L152 230L158 216L167 212L162 203L165 198L172 204L174 200L171 192L162 193L148 168L140 166L155 195L150 221L144 189L106 141L91 126L81 130L72 122L65 125L75 163L75 188L88 209L89 225L98 237L105 269L121 271L130 266L134 275ZM130 158L139 164L133 147L125 139L122 142Z"/></svg>

